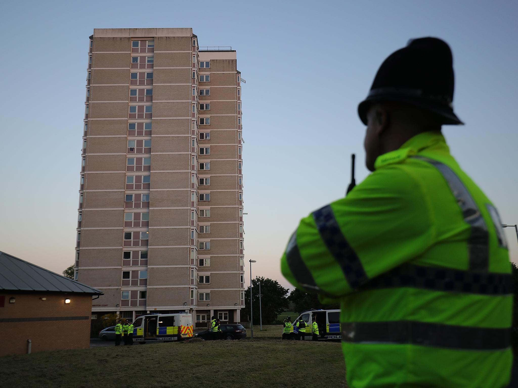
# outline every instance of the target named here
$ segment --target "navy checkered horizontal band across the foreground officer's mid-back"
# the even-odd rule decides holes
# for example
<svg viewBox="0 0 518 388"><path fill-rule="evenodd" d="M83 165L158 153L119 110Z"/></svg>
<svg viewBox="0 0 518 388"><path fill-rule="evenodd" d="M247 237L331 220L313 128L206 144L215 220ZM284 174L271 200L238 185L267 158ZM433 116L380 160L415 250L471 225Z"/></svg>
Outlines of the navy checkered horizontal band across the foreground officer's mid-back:
<svg viewBox="0 0 518 388"><path fill-rule="evenodd" d="M403 264L377 276L361 290L412 287L481 295L512 294L512 275Z"/></svg>

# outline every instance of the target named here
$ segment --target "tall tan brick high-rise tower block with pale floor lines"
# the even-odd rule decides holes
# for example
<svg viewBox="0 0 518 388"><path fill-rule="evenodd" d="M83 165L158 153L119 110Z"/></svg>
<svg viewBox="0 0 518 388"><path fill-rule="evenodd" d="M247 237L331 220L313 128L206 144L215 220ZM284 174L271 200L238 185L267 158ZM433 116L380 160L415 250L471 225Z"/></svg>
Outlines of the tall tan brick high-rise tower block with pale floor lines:
<svg viewBox="0 0 518 388"><path fill-rule="evenodd" d="M236 51L192 28L94 29L88 54L76 279L93 316L244 305Z"/></svg>

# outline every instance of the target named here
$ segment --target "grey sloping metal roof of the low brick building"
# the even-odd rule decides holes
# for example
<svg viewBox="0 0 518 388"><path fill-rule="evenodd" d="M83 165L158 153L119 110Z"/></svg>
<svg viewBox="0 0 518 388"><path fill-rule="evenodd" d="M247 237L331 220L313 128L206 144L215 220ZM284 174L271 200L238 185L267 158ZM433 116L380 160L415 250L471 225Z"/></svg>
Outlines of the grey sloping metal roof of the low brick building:
<svg viewBox="0 0 518 388"><path fill-rule="evenodd" d="M95 288L2 251L0 251L0 290L103 294Z"/></svg>

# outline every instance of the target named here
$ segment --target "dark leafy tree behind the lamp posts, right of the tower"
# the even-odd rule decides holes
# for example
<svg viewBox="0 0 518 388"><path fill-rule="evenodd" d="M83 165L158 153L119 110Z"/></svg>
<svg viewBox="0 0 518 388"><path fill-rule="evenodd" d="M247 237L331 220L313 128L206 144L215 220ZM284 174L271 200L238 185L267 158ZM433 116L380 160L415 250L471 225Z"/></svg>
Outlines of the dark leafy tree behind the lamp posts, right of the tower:
<svg viewBox="0 0 518 388"><path fill-rule="evenodd" d="M254 324L259 324L259 282L261 282L261 309L263 323L274 324L277 316L288 307L287 294L289 290L282 287L277 280L256 277L252 279L253 318ZM244 292L244 308L241 309L241 320L250 317L250 287Z"/></svg>

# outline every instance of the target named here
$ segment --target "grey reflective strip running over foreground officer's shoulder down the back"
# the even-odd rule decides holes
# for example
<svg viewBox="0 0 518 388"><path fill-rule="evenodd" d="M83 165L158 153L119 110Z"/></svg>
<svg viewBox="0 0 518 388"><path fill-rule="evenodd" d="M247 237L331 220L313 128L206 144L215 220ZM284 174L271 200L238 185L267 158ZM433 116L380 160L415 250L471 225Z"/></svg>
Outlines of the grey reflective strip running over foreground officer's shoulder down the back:
<svg viewBox="0 0 518 388"><path fill-rule="evenodd" d="M469 269L471 271L487 272L489 266L489 234L484 217L480 213L477 203L471 197L466 186L453 170L437 160L413 156L415 159L430 163L442 174L452 193L461 207L464 221L471 227L468 239Z"/></svg>

